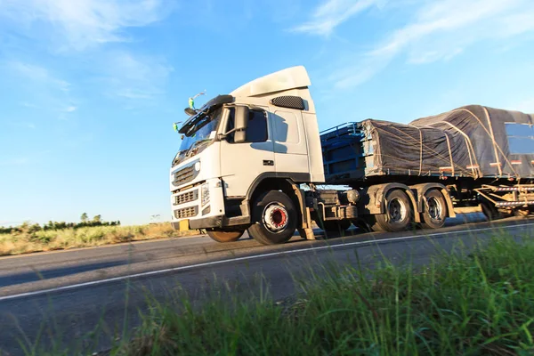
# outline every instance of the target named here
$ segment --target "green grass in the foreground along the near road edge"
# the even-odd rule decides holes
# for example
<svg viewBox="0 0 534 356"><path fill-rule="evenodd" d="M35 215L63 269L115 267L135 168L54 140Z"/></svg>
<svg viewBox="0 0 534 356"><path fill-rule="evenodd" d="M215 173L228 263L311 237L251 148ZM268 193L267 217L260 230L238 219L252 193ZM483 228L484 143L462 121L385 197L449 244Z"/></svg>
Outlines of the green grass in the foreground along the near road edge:
<svg viewBox="0 0 534 356"><path fill-rule="evenodd" d="M321 266L328 273L295 279L301 292L278 303L264 289L243 298L231 287L211 289L201 307L198 298L150 300L133 336L104 354L534 354L534 243L494 239L464 251L424 267Z"/></svg>

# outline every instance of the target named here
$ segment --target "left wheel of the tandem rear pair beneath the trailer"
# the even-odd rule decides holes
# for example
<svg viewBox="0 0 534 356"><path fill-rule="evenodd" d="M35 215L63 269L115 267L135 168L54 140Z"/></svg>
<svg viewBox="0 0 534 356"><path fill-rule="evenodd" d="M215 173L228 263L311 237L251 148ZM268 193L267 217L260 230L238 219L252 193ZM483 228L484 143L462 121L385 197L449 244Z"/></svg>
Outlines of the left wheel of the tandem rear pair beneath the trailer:
<svg viewBox="0 0 534 356"><path fill-rule="evenodd" d="M413 206L408 195L402 190L390 190L386 197L384 214L374 215L374 223L371 224L373 231L399 232L408 229L412 222Z"/></svg>

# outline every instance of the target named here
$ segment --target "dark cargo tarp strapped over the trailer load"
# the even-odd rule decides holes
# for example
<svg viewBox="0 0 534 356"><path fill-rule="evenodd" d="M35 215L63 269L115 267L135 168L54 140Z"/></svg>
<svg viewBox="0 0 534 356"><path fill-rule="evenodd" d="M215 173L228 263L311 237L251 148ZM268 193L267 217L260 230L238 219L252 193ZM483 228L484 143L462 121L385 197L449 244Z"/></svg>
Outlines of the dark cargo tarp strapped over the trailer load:
<svg viewBox="0 0 534 356"><path fill-rule="evenodd" d="M366 175L534 178L534 115L469 105L409 125L368 119Z"/></svg>

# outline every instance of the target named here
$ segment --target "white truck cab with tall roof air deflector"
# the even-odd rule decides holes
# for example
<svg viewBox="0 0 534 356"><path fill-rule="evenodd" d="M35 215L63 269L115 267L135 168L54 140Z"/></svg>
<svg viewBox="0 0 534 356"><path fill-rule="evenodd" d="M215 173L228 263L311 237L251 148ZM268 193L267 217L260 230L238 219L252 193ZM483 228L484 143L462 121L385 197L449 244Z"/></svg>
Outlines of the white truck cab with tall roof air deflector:
<svg viewBox="0 0 534 356"><path fill-rule="evenodd" d="M225 242L260 219L263 235L283 242L287 228L303 226L298 186L325 180L310 84L303 67L284 69L215 97L182 125L170 170L175 229L206 229ZM283 201L257 214L271 190Z"/></svg>

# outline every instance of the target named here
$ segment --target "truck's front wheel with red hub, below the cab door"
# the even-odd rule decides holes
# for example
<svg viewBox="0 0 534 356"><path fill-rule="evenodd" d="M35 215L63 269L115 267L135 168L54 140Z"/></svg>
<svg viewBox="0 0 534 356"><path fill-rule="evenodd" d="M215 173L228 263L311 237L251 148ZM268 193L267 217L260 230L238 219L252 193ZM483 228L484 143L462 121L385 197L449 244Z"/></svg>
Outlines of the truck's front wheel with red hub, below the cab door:
<svg viewBox="0 0 534 356"><path fill-rule="evenodd" d="M286 193L268 191L255 199L248 234L262 245L286 243L295 234L297 216L295 204Z"/></svg>

